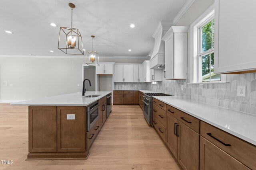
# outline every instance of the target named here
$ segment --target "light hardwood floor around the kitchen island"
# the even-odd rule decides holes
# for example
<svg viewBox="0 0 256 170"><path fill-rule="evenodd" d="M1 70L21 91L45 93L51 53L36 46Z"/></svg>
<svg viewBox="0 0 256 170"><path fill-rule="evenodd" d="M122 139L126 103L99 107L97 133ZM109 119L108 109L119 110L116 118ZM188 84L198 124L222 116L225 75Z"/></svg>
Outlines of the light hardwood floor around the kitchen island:
<svg viewBox="0 0 256 170"><path fill-rule="evenodd" d="M0 104L0 170L159 170L181 169L139 106L113 106L87 160L30 160L28 107Z"/></svg>

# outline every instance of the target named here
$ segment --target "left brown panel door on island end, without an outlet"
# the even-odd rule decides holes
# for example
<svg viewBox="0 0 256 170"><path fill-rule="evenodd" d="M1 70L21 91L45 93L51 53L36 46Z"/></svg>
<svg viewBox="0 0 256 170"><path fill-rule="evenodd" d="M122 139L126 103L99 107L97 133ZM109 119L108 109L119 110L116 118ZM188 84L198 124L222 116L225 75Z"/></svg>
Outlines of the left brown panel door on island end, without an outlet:
<svg viewBox="0 0 256 170"><path fill-rule="evenodd" d="M28 107L28 151L57 152L57 107Z"/></svg>

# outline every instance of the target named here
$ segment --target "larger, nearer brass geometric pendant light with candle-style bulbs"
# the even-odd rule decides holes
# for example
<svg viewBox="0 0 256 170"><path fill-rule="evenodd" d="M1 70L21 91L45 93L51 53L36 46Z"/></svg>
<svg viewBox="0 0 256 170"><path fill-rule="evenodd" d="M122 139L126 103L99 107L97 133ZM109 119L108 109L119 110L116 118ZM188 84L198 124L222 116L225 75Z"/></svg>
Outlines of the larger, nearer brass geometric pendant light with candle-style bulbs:
<svg viewBox="0 0 256 170"><path fill-rule="evenodd" d="M71 8L71 28L60 27L58 49L66 54L84 55L82 36L77 28L73 28L73 8L76 6L69 3Z"/></svg>

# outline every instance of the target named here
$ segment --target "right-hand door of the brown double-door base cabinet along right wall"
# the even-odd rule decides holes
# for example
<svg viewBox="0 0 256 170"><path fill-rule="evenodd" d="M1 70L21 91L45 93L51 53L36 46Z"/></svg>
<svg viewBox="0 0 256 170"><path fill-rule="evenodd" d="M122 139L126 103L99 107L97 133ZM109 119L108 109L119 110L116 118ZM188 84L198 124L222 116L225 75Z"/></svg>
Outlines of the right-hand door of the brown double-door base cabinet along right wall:
<svg viewBox="0 0 256 170"><path fill-rule="evenodd" d="M178 121L178 162L184 170L199 169L199 134Z"/></svg>

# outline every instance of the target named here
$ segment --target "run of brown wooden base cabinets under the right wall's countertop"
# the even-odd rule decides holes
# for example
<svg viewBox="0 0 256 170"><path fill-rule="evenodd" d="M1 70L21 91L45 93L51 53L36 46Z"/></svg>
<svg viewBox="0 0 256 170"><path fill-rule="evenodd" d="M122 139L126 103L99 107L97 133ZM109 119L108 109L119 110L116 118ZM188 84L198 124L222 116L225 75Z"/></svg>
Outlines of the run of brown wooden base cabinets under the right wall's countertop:
<svg viewBox="0 0 256 170"><path fill-rule="evenodd" d="M256 170L256 146L157 99L153 103L153 125L184 170Z"/></svg>

